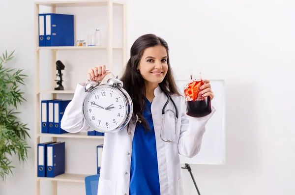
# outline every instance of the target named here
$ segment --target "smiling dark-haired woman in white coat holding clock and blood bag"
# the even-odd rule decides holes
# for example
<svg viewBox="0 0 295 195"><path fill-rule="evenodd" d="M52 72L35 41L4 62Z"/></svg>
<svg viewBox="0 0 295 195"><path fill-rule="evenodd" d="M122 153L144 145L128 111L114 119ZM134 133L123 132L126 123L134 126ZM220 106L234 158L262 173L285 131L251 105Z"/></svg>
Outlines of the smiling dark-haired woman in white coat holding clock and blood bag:
<svg viewBox="0 0 295 195"><path fill-rule="evenodd" d="M184 194L179 154L188 158L198 154L215 109L201 118L186 115L168 51L166 41L153 34L139 37L131 47L121 80L132 98L133 116L121 131L105 134L98 195ZM102 81L105 71L104 65L90 68L88 80ZM209 81L204 83L203 96L213 99ZM61 128L67 132L92 131L82 115L85 84L77 84L62 117Z"/></svg>

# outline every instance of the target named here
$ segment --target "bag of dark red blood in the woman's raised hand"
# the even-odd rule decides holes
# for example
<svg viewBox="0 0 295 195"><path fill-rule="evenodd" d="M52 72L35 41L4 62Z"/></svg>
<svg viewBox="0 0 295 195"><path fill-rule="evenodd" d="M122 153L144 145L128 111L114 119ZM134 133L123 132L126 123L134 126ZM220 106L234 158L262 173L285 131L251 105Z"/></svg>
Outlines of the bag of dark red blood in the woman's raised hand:
<svg viewBox="0 0 295 195"><path fill-rule="evenodd" d="M210 97L202 97L200 87L203 80L193 81L184 88L186 114L192 117L203 117L211 113Z"/></svg>

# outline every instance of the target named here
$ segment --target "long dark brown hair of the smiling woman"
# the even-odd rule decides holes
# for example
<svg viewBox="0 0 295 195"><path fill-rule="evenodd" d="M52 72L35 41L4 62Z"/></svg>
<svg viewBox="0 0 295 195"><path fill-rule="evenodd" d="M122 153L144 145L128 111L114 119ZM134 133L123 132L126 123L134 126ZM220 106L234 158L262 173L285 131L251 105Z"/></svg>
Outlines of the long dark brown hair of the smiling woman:
<svg viewBox="0 0 295 195"><path fill-rule="evenodd" d="M144 78L142 77L140 72L137 71L137 67L144 54L145 49L157 45L165 47L168 56L167 74L164 80L161 83L159 83L159 86L162 91L168 94L180 95L177 90L177 85L175 84L173 72L171 70L169 62L168 44L164 39L154 34L145 34L135 40L130 50L130 58L125 66L125 70L121 78L121 81L124 83L123 88L128 92L133 102L133 115L131 120L133 123L135 123L137 120L137 114L140 120L142 121L142 124L145 127L146 132L150 130L148 122L143 117L143 111L145 109L146 104L146 85Z"/></svg>

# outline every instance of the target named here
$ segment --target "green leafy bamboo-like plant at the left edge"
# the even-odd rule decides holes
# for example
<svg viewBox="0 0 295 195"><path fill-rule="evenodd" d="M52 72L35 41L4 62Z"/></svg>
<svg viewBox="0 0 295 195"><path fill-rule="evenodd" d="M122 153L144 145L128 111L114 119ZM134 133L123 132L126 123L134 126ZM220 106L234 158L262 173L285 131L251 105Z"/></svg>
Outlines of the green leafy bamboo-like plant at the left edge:
<svg viewBox="0 0 295 195"><path fill-rule="evenodd" d="M0 178L6 179L12 174L12 155L17 155L20 163L27 162L28 149L26 142L29 137L27 124L19 121L17 114L18 105L26 101L19 88L24 85L27 75L21 74L23 70L15 70L6 67L13 56L14 51L8 56L7 50L0 55Z"/></svg>

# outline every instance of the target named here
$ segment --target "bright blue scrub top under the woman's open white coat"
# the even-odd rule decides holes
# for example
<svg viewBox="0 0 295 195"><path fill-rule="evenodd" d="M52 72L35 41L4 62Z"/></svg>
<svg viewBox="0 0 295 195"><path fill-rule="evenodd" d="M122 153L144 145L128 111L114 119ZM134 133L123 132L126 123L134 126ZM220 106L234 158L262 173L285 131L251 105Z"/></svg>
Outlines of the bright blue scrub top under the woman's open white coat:
<svg viewBox="0 0 295 195"><path fill-rule="evenodd" d="M150 131L137 124L134 132L129 195L160 195L160 181L156 149L155 131L150 112L151 103L146 99L144 118Z"/></svg>

